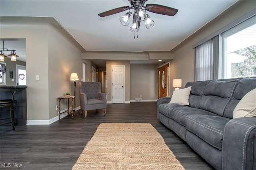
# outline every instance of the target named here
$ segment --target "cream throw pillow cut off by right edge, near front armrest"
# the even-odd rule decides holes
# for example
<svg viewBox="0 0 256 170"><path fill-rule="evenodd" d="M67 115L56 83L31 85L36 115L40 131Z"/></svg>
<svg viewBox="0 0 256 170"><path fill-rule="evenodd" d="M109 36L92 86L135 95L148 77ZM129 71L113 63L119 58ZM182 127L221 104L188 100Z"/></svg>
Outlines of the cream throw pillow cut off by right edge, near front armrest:
<svg viewBox="0 0 256 170"><path fill-rule="evenodd" d="M248 92L236 105L233 118L256 117L256 88Z"/></svg>

